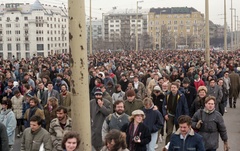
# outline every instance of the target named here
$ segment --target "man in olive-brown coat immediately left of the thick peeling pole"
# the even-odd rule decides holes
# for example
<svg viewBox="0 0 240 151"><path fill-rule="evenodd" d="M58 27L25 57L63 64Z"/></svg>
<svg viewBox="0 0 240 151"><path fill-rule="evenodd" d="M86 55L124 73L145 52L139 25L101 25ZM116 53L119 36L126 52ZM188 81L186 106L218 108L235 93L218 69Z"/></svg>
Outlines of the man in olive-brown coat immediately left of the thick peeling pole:
<svg viewBox="0 0 240 151"><path fill-rule="evenodd" d="M68 110L68 116L71 117L72 93L67 90L65 84L61 85L60 105Z"/></svg>

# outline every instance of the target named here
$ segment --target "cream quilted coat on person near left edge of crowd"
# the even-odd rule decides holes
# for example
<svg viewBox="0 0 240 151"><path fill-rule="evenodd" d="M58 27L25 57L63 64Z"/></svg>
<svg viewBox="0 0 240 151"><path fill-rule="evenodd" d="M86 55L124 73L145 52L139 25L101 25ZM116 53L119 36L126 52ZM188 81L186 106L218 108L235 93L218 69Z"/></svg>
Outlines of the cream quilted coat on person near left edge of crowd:
<svg viewBox="0 0 240 151"><path fill-rule="evenodd" d="M23 112L23 96L20 95L19 98L16 96L13 96L12 99L12 106L13 106L13 112L15 114L16 119L22 119L22 112Z"/></svg>

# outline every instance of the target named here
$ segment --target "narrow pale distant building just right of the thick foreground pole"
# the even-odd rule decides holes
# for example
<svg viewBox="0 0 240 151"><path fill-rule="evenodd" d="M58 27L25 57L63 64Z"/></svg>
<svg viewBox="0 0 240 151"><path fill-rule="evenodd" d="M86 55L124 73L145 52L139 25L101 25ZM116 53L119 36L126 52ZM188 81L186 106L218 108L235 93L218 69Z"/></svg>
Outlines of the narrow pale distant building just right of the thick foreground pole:
<svg viewBox="0 0 240 151"><path fill-rule="evenodd" d="M92 48L94 50L101 48L103 42L103 22L102 20L92 20ZM87 27L87 43L90 45L90 22L86 22Z"/></svg>

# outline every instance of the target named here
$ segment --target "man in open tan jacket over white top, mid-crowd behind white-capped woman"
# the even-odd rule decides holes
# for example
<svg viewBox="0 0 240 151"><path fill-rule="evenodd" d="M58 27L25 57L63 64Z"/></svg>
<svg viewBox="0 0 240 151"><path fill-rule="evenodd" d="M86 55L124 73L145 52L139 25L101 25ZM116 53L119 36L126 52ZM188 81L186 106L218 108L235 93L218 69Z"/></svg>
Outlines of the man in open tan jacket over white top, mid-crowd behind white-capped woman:
<svg viewBox="0 0 240 151"><path fill-rule="evenodd" d="M137 90L136 98L144 99L146 97L146 88L145 88L144 84L139 81L138 75L134 76L133 82L134 82L133 83L134 89Z"/></svg>

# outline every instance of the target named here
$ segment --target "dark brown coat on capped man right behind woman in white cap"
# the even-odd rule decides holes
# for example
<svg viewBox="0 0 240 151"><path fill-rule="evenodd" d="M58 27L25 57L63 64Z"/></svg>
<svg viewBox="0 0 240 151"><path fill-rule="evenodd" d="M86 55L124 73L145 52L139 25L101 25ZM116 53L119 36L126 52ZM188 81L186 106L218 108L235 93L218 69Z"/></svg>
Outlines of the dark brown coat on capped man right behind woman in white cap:
<svg viewBox="0 0 240 151"><path fill-rule="evenodd" d="M143 102L139 99L134 99L132 102L125 101L124 102L124 107L125 107L125 113L127 115L132 115L132 112L134 110L142 109L143 108Z"/></svg>

